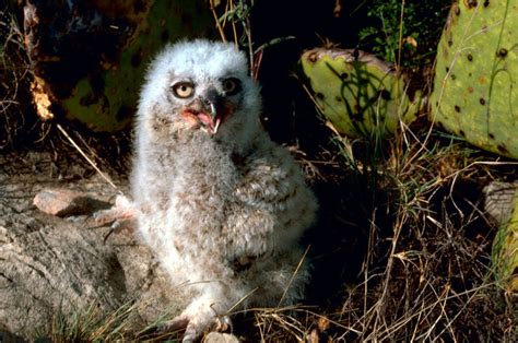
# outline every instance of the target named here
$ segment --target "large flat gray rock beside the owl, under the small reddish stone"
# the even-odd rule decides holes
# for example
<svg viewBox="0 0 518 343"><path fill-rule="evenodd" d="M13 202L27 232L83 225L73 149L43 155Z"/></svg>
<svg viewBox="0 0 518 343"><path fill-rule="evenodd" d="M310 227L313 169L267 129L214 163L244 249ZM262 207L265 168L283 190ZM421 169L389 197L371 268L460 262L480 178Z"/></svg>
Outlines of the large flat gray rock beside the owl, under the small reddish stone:
<svg viewBox="0 0 518 343"><path fill-rule="evenodd" d="M32 205L34 196L49 187L98 194L96 201L105 202L115 191L102 178L63 182L46 173L56 166L45 154L33 154L28 162L0 158L2 334L30 340L36 331L48 334L57 314L71 317L92 306L110 314L132 304L137 330L172 311L174 289L132 232L108 235L111 228L96 226L92 216L70 221ZM43 170L34 172L36 163Z"/></svg>

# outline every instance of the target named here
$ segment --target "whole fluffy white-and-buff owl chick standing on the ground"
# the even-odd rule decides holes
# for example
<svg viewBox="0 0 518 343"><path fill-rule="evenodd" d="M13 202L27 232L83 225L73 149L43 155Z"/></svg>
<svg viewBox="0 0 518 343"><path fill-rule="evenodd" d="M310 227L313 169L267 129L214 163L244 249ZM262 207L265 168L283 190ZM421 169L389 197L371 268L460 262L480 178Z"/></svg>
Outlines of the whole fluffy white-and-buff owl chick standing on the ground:
<svg viewBox="0 0 518 343"><path fill-rule="evenodd" d="M259 121L259 85L232 44L168 46L137 114L138 232L179 285L168 322L199 338L236 304L290 305L308 268L298 239L317 202L290 153Z"/></svg>

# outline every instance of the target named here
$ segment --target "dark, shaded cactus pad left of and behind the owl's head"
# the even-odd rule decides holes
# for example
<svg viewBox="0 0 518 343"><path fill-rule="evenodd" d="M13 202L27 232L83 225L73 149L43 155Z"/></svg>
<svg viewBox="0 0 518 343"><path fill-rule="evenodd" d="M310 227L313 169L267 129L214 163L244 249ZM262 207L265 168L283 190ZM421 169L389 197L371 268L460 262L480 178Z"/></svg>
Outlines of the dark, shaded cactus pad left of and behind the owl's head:
<svg viewBox="0 0 518 343"><path fill-rule="evenodd" d="M168 42L207 36L203 0L56 1L24 7L38 114L116 131L131 120L143 73Z"/></svg>

